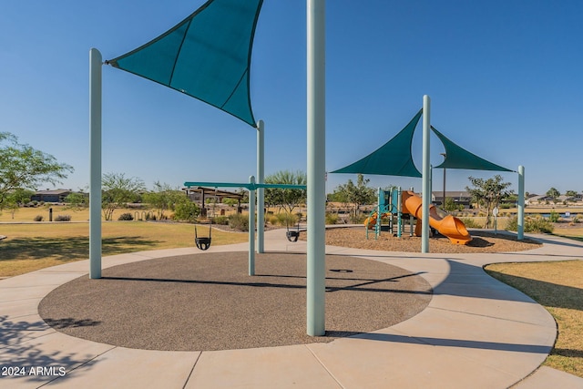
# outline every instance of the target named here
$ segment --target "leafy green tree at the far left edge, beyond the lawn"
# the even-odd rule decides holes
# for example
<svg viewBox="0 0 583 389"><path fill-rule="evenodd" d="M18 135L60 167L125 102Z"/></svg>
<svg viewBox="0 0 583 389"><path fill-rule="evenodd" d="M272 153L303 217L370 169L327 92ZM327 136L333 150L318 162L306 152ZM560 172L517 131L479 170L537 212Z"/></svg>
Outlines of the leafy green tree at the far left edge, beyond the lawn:
<svg viewBox="0 0 583 389"><path fill-rule="evenodd" d="M73 167L57 162L52 155L18 143L9 132L0 132L0 210L15 189L36 190L46 182L56 184L71 172Z"/></svg>

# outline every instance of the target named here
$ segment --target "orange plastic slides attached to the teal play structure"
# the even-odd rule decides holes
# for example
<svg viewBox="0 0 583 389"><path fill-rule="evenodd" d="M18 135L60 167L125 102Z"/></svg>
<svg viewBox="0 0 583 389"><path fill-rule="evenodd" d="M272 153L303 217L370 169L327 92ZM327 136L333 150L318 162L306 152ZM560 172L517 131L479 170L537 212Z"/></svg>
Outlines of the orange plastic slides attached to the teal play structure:
<svg viewBox="0 0 583 389"><path fill-rule="evenodd" d="M422 220L422 200L419 196L414 194L411 190L403 191L402 194L402 212L413 215L417 219L415 225L415 236L421 236L421 220ZM382 217L390 216L390 213L384 213ZM364 225L368 229L372 229L377 219L377 212L374 212L370 217L364 220ZM435 205L429 207L429 225L438 230L439 233L449 238L454 244L467 244L472 241L472 236L465 229L465 224L462 220L455 218L452 215L441 217L437 213Z"/></svg>

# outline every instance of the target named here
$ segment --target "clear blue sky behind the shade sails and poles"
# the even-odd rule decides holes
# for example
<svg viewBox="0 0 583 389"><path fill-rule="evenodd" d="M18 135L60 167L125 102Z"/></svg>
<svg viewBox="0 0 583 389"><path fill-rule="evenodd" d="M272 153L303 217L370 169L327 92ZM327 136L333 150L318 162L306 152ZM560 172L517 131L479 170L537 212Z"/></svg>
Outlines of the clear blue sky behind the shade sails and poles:
<svg viewBox="0 0 583 389"><path fill-rule="evenodd" d="M159 36L203 0L3 0L0 131L75 168L88 184L88 50L104 59ZM328 0L326 169L380 147L432 98L432 124L478 156L526 167L526 189L583 191L583 2ZM266 174L306 170L305 1L265 0L251 99L266 123ZM178 187L246 182L255 130L219 109L113 67L103 74L103 172ZM414 159L421 170L421 125ZM432 138L432 163L443 152ZM434 190L442 189L435 169ZM448 170L447 189L468 176ZM503 174L517 190L517 175ZM370 176L421 189L421 179ZM332 191L353 175L329 174ZM47 185L46 188L52 188Z"/></svg>

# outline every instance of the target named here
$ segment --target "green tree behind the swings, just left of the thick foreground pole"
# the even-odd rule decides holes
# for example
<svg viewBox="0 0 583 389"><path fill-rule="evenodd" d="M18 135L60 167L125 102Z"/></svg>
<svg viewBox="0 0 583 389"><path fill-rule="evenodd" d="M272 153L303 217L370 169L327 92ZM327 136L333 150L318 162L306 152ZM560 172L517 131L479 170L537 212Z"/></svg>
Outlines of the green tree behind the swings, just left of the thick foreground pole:
<svg viewBox="0 0 583 389"><path fill-rule="evenodd" d="M264 179L266 184L288 184L288 185L306 185L308 181L306 173L303 171L292 172L290 170L280 170ZM286 213L292 211L300 204L306 201L305 189L281 189L266 188L265 203L268 206L279 207Z"/></svg>

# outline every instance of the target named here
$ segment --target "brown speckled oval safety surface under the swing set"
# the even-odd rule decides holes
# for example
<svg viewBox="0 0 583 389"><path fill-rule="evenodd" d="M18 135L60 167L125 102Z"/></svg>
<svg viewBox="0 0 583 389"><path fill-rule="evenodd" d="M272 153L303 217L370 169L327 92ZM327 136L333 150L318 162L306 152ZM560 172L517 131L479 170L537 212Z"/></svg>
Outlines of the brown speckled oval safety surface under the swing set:
<svg viewBox="0 0 583 389"><path fill-rule="evenodd" d="M115 266L50 292L41 317L58 331L99 343L174 351L332 342L390 327L422 312L431 286L393 265L326 258L326 336L306 334L305 254L256 258L204 253Z"/></svg>

